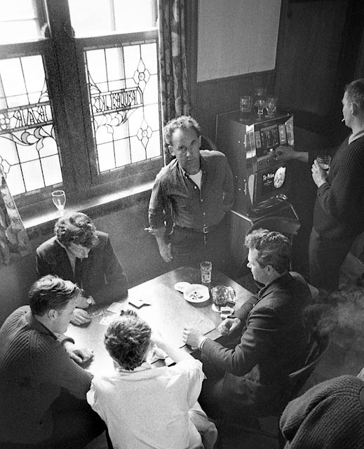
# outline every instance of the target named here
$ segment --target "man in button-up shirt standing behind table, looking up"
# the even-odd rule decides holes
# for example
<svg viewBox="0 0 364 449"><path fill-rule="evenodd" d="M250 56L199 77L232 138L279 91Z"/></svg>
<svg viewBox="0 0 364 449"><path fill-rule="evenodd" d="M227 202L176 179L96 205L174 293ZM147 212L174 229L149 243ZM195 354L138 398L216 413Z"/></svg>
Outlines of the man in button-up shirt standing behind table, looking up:
<svg viewBox="0 0 364 449"><path fill-rule="evenodd" d="M149 232L174 267L227 257L224 215L234 203L231 170L224 154L200 150L201 128L190 116L171 120L164 139L175 156L156 177L149 202ZM171 232L172 231L172 232Z"/></svg>

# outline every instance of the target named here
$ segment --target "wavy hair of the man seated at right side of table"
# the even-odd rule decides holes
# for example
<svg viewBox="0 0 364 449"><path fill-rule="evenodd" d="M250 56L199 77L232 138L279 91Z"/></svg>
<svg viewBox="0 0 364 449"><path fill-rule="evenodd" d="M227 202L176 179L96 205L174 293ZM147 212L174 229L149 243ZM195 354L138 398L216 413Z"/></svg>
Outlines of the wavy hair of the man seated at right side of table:
<svg viewBox="0 0 364 449"><path fill-rule="evenodd" d="M258 251L259 267L271 265L279 274L289 271L290 241L283 234L268 229L256 229L245 237L245 246Z"/></svg>

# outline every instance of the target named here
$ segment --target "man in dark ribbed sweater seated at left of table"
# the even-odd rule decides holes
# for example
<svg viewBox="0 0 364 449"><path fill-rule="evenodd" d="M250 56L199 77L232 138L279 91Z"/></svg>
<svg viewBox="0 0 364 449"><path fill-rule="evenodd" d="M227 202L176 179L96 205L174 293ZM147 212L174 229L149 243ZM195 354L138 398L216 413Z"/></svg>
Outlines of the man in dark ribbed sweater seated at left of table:
<svg viewBox="0 0 364 449"><path fill-rule="evenodd" d="M86 402L92 357L63 336L81 290L44 276L0 329L1 449L79 449L105 430Z"/></svg>

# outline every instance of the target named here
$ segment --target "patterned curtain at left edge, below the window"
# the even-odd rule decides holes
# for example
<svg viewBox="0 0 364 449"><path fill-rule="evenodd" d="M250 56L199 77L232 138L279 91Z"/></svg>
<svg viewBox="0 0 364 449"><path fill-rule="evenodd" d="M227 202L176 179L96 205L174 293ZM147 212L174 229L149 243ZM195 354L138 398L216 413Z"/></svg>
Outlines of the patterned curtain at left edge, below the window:
<svg viewBox="0 0 364 449"><path fill-rule="evenodd" d="M30 253L27 232L0 166L0 264Z"/></svg>

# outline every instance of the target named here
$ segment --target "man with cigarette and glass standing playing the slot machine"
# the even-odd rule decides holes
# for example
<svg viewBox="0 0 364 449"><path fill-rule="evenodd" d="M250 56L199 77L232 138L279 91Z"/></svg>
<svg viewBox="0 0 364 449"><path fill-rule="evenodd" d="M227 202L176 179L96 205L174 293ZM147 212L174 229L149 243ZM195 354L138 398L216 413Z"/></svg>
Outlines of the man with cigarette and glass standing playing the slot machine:
<svg viewBox="0 0 364 449"><path fill-rule="evenodd" d="M339 288L342 262L356 236L364 231L364 79L346 86L342 114L352 133L332 152L328 173L314 161L323 152L276 149L278 160L314 161L311 171L318 190L309 243L310 282L328 292Z"/></svg>

